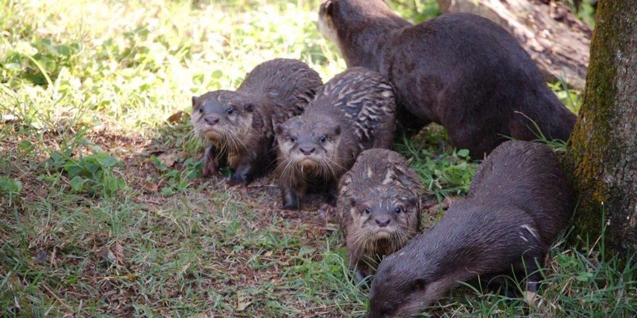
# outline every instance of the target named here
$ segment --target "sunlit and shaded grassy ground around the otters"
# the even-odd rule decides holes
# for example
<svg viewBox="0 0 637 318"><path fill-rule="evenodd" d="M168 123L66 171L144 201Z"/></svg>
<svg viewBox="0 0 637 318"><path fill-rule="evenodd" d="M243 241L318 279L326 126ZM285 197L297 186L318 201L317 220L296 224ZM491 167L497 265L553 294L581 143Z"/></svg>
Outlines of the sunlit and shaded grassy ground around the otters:
<svg viewBox="0 0 637 318"><path fill-rule="evenodd" d="M202 179L187 121L191 95L234 88L263 60L301 59L325 80L344 69L315 30L318 4L0 0L0 315L361 316L334 220L280 211L271 178ZM437 12L391 4L415 21ZM426 185L429 226L477 162L436 126L395 148ZM541 307L463 287L431 313L633 317L634 266L575 242L551 250Z"/></svg>

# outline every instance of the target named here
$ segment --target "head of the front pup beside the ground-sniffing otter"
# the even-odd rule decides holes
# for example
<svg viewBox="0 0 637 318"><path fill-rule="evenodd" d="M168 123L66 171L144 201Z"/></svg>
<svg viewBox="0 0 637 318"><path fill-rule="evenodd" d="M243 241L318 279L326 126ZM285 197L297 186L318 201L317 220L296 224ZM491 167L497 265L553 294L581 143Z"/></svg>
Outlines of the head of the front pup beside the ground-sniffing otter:
<svg viewBox="0 0 637 318"><path fill-rule="evenodd" d="M416 193L390 185L350 198L348 246L381 255L397 251L418 231L419 202Z"/></svg>

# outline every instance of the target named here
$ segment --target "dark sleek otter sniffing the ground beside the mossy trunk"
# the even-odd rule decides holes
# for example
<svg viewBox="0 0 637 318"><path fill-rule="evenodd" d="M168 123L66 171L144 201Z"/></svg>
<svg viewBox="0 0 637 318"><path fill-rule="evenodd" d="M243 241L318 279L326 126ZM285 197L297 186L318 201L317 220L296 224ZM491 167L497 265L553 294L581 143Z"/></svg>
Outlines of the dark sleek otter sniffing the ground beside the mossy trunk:
<svg viewBox="0 0 637 318"><path fill-rule="evenodd" d="M508 141L478 168L468 197L431 230L383 259L370 292L369 318L412 317L459 282L496 275L527 277L566 228L574 193L557 156L543 144ZM536 263L537 262L537 263Z"/></svg>

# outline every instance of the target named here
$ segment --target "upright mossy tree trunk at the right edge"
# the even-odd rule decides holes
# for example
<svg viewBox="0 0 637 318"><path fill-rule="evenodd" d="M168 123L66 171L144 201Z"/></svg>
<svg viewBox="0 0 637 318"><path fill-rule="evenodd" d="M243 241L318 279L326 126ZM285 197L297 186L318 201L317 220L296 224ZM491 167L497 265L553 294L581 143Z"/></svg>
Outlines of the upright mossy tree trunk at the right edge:
<svg viewBox="0 0 637 318"><path fill-rule="evenodd" d="M637 6L600 0L568 163L580 204L576 230L626 257L637 251Z"/></svg>

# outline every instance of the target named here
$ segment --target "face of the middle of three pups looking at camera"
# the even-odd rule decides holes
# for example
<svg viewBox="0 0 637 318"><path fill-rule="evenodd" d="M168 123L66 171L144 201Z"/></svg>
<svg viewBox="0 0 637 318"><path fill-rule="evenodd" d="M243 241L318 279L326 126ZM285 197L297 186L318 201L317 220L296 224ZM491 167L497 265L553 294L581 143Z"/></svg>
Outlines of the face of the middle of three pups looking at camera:
<svg viewBox="0 0 637 318"><path fill-rule="evenodd" d="M283 170L300 169L304 175L336 177L333 156L341 134L341 125L333 120L304 116L276 125Z"/></svg>

